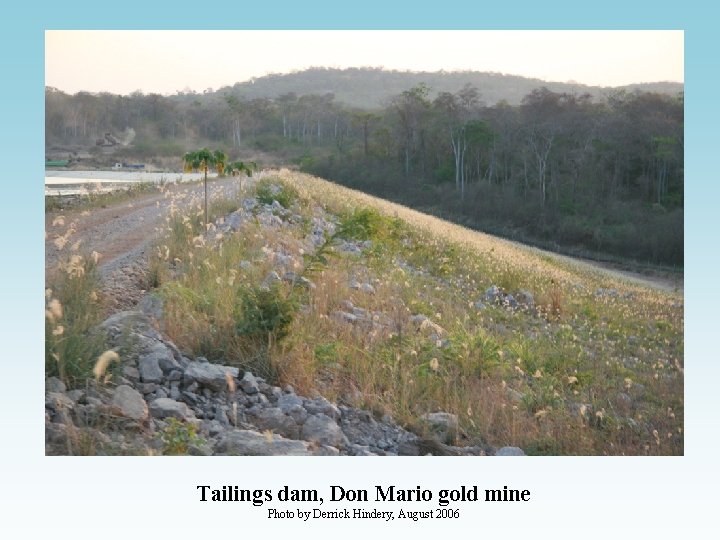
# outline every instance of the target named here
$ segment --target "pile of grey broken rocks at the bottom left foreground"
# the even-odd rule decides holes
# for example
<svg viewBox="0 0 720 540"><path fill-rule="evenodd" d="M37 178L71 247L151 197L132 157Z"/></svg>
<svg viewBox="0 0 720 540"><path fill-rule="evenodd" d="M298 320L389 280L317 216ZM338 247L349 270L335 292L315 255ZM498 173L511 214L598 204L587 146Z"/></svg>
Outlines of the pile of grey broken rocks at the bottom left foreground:
<svg viewBox="0 0 720 540"><path fill-rule="evenodd" d="M187 358L157 330L161 313L146 297L138 310L102 324L123 352L112 385L68 391L46 382L46 453L66 455L523 455L514 447L453 446L457 418L428 414L420 437L392 418L300 396L238 368Z"/></svg>

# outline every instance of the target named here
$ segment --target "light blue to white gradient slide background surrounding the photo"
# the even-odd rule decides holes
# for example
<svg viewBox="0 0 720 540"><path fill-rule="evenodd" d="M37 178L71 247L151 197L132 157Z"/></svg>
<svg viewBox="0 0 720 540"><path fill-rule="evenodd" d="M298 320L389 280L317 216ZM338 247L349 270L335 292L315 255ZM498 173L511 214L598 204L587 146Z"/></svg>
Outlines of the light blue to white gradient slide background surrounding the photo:
<svg viewBox="0 0 720 540"><path fill-rule="evenodd" d="M3 309L0 531L55 538L168 534L269 538L385 530L437 537L708 537L717 533L718 8L706 2L64 2L3 8ZM46 29L681 29L686 68L686 456L682 458L315 459L46 458L43 403L44 30ZM243 51L237 51L243 54ZM321 522L290 529L241 504L197 502L197 484L326 490L374 484L438 490L527 488L531 503L460 505L452 524ZM395 509L390 505L384 509ZM420 509L413 505L411 509ZM283 529L284 528L284 529ZM520 528L527 528L522 533ZM157 529L157 530L154 530ZM281 529L283 529L281 531ZM705 530L705 534L700 531ZM460 532L460 531L457 531ZM514 533L514 534L512 534Z"/></svg>

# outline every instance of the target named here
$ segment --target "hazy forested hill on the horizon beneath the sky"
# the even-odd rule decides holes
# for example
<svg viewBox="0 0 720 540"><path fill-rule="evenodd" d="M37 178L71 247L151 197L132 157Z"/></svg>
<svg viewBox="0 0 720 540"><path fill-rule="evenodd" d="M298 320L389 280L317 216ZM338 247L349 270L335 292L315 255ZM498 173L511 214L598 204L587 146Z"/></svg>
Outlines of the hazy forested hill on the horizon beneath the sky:
<svg viewBox="0 0 720 540"><path fill-rule="evenodd" d="M547 82L517 75L479 71L419 72L390 71L380 68L311 68L295 73L266 75L236 83L232 87L221 88L217 93L220 95L232 93L246 99L274 99L288 93L295 93L298 96L332 93L337 102L373 109L386 105L393 96L421 83L431 89L431 97L440 92L455 93L470 84L480 90L481 99L487 105L495 105L502 100L510 105L519 105L526 95L543 86L553 92L588 93L594 98L604 98L611 92L621 89L627 91L637 89L669 95L683 91L681 83L673 82L634 84L616 89L577 83ZM193 95L188 95L191 96Z"/></svg>

